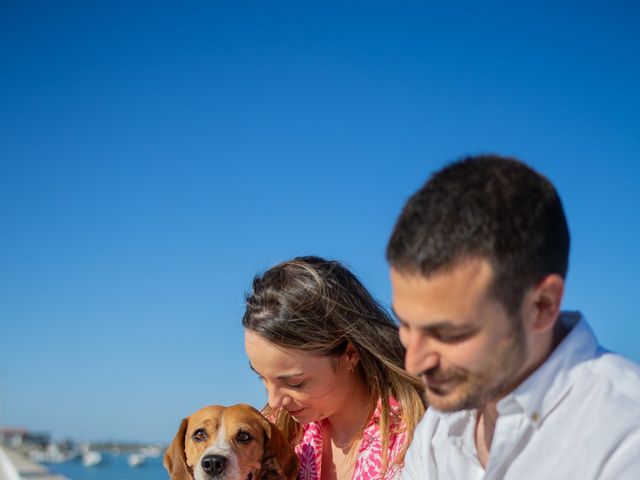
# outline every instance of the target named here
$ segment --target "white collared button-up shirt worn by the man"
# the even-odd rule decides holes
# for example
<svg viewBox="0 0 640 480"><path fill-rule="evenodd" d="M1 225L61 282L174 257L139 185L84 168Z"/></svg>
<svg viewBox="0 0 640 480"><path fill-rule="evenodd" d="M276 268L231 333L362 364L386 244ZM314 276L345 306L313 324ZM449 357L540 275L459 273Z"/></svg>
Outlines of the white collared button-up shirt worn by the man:
<svg viewBox="0 0 640 480"><path fill-rule="evenodd" d="M579 313L569 334L497 405L486 469L476 411L429 408L405 458L403 479L640 479L640 366L598 347Z"/></svg>

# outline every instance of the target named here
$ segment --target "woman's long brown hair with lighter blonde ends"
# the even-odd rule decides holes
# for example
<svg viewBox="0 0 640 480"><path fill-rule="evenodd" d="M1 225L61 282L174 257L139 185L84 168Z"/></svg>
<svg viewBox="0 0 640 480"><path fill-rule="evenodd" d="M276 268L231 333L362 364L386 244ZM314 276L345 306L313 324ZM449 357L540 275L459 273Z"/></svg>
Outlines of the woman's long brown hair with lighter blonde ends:
<svg viewBox="0 0 640 480"><path fill-rule="evenodd" d="M403 368L398 327L353 273L337 261L319 257L280 263L254 278L242 324L276 345L314 355L339 357L348 344L353 345L360 356L357 374L369 390L367 418L380 402L383 471L388 465L390 434L397 425L390 397L399 402L408 433L395 459L403 464L425 410L424 387ZM275 420L292 444L299 442L302 426L288 413L268 405L263 413ZM352 439L352 447L365 427Z"/></svg>

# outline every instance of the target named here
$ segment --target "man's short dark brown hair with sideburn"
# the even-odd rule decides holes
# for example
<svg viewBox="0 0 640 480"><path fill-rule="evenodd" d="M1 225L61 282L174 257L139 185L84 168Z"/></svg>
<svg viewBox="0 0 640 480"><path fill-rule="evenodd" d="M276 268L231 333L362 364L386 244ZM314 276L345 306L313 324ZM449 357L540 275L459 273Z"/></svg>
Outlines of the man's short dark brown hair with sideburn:
<svg viewBox="0 0 640 480"><path fill-rule="evenodd" d="M511 314L542 278L566 277L569 228L551 182L495 155L436 172L402 210L387 260L401 273L428 277L471 258L491 263L494 296Z"/></svg>

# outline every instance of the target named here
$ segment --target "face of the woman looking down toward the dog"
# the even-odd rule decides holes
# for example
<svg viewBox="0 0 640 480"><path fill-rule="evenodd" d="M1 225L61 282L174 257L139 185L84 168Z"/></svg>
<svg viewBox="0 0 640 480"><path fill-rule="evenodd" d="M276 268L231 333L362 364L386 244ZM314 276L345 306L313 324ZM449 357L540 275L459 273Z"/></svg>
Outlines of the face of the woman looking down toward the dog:
<svg viewBox="0 0 640 480"><path fill-rule="evenodd" d="M245 330L251 369L264 382L269 406L284 409L300 423L331 417L343 410L356 388L358 356L353 347L340 357L313 355L279 347Z"/></svg>

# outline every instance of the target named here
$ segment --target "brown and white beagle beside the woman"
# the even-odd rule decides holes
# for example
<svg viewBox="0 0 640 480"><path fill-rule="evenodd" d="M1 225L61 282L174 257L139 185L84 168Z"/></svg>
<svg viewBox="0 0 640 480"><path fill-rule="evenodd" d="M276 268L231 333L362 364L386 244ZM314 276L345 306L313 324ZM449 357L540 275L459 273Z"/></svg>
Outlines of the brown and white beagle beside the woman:
<svg viewBox="0 0 640 480"><path fill-rule="evenodd" d="M182 420L164 467L172 480L294 480L298 458L255 408L211 405Z"/></svg>

